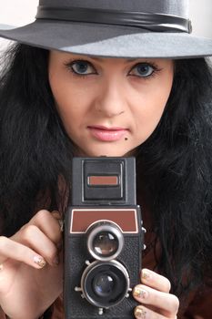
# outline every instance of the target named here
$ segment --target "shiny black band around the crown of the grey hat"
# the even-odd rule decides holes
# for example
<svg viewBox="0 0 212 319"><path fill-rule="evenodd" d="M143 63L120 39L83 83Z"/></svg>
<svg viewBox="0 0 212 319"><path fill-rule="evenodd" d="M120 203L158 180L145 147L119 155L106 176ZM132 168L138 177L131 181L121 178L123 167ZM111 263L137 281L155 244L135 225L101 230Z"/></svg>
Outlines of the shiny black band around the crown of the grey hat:
<svg viewBox="0 0 212 319"><path fill-rule="evenodd" d="M154 32L192 32L191 21L176 15L79 7L39 5L36 19L61 20L112 26L133 26Z"/></svg>

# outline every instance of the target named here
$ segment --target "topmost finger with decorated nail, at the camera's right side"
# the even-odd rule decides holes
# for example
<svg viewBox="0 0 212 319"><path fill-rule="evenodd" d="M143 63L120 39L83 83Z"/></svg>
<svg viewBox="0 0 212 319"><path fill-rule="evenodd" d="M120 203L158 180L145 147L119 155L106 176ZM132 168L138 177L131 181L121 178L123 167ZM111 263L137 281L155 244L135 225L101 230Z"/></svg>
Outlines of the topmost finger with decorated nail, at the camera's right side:
<svg viewBox="0 0 212 319"><path fill-rule="evenodd" d="M164 293L169 293L171 289L171 283L166 277L148 269L142 270L141 282Z"/></svg>

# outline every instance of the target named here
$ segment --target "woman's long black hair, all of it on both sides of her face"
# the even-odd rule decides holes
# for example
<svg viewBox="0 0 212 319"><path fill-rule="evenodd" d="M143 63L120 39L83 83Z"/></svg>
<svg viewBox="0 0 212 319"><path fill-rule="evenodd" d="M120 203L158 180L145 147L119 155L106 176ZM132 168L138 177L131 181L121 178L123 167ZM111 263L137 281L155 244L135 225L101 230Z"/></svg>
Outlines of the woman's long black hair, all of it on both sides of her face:
<svg viewBox="0 0 212 319"><path fill-rule="evenodd" d="M1 233L10 236L38 209L60 207L58 177L69 182L74 146L49 87L48 51L19 44L5 57L0 213ZM206 59L177 60L164 115L137 149L137 190L162 247L157 266L177 294L200 283L211 262L211 84Z"/></svg>

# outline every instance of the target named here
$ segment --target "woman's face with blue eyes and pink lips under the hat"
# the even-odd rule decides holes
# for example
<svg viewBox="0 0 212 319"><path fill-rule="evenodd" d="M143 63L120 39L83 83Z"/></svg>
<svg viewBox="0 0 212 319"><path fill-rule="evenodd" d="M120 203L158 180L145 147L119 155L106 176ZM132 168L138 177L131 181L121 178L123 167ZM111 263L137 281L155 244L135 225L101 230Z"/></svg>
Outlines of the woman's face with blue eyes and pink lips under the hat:
<svg viewBox="0 0 212 319"><path fill-rule="evenodd" d="M96 58L51 51L49 82L78 155L132 155L156 129L173 82L168 59Z"/></svg>

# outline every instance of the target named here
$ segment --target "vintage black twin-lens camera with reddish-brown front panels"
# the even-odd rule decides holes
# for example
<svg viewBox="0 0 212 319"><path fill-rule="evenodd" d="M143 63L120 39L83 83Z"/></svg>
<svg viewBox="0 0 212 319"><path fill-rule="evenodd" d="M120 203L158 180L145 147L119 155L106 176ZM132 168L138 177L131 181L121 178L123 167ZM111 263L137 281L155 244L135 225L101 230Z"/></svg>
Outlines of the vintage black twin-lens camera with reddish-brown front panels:
<svg viewBox="0 0 212 319"><path fill-rule="evenodd" d="M133 318L144 248L134 158L75 158L65 221L66 319Z"/></svg>

